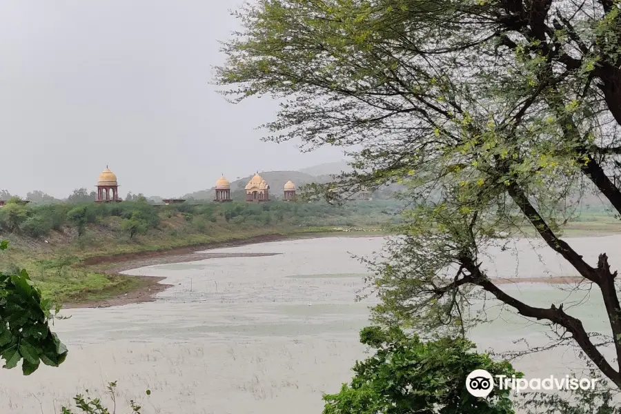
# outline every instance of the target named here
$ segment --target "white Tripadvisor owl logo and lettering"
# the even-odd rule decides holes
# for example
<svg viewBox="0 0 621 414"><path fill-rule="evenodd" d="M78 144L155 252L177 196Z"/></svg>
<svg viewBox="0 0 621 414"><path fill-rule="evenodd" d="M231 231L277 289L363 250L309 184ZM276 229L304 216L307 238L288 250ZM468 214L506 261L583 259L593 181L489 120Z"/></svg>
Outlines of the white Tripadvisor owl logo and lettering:
<svg viewBox="0 0 621 414"><path fill-rule="evenodd" d="M595 390L595 382L597 378L575 378L565 375L564 377L555 377L550 375L546 378L516 378L515 375L507 377L506 375L495 375L494 377L484 369L475 369L466 377L466 389L474 397L487 397L497 386L500 390L513 390L520 393L526 389L531 391L541 390L558 390L558 391L575 391L580 388L583 391Z"/></svg>

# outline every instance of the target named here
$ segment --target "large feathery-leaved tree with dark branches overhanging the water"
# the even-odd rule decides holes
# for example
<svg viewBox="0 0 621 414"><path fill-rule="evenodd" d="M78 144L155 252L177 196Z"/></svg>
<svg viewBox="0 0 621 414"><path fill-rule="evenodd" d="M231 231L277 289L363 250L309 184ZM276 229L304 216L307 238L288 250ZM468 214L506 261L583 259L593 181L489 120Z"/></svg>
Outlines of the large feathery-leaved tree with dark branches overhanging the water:
<svg viewBox="0 0 621 414"><path fill-rule="evenodd" d="M559 206L589 189L621 213L618 3L262 0L236 14L217 81L234 102L281 99L265 139L353 148L354 171L317 187L328 198L397 182L419 201L371 281L377 319L463 334L481 288L621 386L617 272L559 225L571 216ZM482 250L524 226L602 296L615 361L562 304L533 306L489 277Z"/></svg>

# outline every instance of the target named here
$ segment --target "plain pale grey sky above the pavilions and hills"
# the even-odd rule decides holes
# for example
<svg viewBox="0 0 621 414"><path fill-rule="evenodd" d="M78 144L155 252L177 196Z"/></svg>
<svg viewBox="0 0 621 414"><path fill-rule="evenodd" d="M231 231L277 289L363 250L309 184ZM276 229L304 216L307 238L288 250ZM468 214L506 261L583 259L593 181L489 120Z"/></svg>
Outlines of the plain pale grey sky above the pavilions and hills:
<svg viewBox="0 0 621 414"><path fill-rule="evenodd" d="M255 170L342 159L266 144L264 99L227 103L210 85L239 1L0 2L0 188L66 197L106 167L119 193L174 197Z"/></svg>

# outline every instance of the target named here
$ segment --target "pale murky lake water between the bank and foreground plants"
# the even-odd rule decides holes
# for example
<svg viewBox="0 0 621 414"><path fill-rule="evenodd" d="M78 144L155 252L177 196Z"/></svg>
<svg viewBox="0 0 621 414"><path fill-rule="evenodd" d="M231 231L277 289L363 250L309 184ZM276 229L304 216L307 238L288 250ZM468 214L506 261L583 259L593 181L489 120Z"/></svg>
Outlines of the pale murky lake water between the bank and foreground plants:
<svg viewBox="0 0 621 414"><path fill-rule="evenodd" d="M569 240L594 264L613 257L621 237ZM298 414L322 412L322 394L335 393L365 356L358 331L368 306L355 302L366 268L351 253L373 256L381 237L333 237L210 250L279 253L149 266L127 272L164 276L174 285L155 302L63 311L70 319L55 330L69 348L59 368L42 366L30 377L0 375L0 413L59 413L76 393L101 394L118 381L119 400L142 400L144 413ZM511 251L490 250L486 266L496 277L574 275L551 250L517 241ZM515 255L515 251L520 252ZM618 259L615 259L618 257ZM519 265L519 266L518 266ZM529 304L565 304L591 331L608 333L596 294L569 293L545 284L504 284ZM495 351L546 344L545 326L490 308L495 322L477 326L472 338ZM598 319L599 315L599 319ZM514 364L527 377L564 375L580 368L575 355L547 352Z"/></svg>

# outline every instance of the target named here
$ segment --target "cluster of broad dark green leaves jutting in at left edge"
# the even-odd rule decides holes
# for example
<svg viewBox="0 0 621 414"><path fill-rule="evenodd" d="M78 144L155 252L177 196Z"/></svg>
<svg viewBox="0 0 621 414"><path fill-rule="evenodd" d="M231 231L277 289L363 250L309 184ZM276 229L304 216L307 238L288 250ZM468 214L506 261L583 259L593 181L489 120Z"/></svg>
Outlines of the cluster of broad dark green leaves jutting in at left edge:
<svg viewBox="0 0 621 414"><path fill-rule="evenodd" d="M0 243L0 250L7 248ZM21 366L24 375L37 371L39 364L59 366L67 348L50 330L52 303L41 299L41 291L30 281L26 270L0 274L0 355L3 368ZM58 313L58 309L56 313Z"/></svg>

